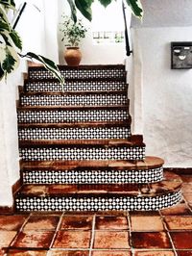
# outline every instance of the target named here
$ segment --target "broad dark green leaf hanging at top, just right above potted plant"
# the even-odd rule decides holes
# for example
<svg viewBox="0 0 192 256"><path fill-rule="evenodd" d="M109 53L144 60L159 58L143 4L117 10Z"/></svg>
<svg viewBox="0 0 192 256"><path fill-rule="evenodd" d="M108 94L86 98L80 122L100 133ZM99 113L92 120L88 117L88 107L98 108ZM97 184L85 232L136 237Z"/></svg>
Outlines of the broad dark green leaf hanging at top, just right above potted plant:
<svg viewBox="0 0 192 256"><path fill-rule="evenodd" d="M92 19L91 5L93 0L75 0L75 5L78 10L87 18L89 21Z"/></svg>

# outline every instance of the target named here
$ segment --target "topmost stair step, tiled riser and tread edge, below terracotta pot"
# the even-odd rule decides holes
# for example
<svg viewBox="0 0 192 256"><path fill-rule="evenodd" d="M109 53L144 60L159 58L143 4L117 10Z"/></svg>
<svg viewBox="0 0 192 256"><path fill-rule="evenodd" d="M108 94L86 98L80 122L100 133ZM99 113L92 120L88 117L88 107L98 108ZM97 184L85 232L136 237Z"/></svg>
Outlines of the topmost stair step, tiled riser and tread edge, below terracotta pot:
<svg viewBox="0 0 192 256"><path fill-rule="evenodd" d="M92 78L126 78L125 65L79 65L67 66L59 65L60 73L67 79L92 79ZM33 79L49 79L53 78L51 72L43 66L30 66L28 69L29 78Z"/></svg>

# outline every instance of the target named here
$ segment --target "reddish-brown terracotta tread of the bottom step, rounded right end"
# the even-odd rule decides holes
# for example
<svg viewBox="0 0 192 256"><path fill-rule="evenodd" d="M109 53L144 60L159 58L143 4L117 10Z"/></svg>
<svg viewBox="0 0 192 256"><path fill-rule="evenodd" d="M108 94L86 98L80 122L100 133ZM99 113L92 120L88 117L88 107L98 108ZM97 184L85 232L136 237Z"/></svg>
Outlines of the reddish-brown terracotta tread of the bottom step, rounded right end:
<svg viewBox="0 0 192 256"><path fill-rule="evenodd" d="M176 192L181 187L180 177L172 172L164 173L164 180L153 184L101 184L101 185L23 185L17 196L156 196Z"/></svg>

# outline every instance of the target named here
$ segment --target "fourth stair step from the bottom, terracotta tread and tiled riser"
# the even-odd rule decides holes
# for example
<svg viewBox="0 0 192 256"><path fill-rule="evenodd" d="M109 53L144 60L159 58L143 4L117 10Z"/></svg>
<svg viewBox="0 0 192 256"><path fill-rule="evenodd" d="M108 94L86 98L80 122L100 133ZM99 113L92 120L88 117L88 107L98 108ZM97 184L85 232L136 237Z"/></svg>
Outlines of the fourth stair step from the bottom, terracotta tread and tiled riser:
<svg viewBox="0 0 192 256"><path fill-rule="evenodd" d="M128 139L131 127L128 122L19 124L19 140L102 140Z"/></svg>

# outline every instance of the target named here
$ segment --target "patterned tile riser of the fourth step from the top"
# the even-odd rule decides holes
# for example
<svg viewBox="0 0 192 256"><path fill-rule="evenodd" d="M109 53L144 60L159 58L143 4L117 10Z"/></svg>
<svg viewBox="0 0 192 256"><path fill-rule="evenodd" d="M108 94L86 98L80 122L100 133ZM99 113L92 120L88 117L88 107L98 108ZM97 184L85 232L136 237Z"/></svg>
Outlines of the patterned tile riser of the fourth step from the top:
<svg viewBox="0 0 192 256"><path fill-rule="evenodd" d="M64 123L91 121L123 121L129 119L127 110L89 111L18 111L19 123Z"/></svg>

